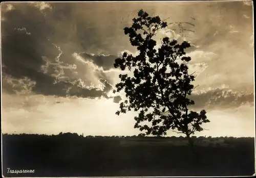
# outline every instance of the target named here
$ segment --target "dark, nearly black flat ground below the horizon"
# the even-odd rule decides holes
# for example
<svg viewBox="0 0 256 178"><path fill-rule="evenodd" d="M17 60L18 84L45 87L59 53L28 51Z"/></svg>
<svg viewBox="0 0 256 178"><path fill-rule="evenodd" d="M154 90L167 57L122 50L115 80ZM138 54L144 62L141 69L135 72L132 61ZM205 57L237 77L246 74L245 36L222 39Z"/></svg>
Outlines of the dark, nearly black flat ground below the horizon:
<svg viewBox="0 0 256 178"><path fill-rule="evenodd" d="M3 135L4 176L232 176L254 173L254 138L229 146L121 146L120 137ZM179 138L180 139L180 138ZM193 159L194 158L194 159ZM34 169L34 173L7 173Z"/></svg>

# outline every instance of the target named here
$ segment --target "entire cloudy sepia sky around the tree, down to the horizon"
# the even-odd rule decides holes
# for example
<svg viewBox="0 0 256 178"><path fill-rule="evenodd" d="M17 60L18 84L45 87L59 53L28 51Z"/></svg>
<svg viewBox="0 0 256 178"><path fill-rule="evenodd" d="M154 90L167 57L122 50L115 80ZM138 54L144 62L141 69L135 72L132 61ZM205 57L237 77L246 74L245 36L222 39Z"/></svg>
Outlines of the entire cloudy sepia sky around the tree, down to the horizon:
<svg viewBox="0 0 256 178"><path fill-rule="evenodd" d="M115 59L137 54L123 28L140 9L177 22L158 33L158 44L164 36L191 43L191 109L210 120L195 135L254 137L250 1L1 3L2 132L139 134L136 112L115 115L125 93L112 91L127 72Z"/></svg>

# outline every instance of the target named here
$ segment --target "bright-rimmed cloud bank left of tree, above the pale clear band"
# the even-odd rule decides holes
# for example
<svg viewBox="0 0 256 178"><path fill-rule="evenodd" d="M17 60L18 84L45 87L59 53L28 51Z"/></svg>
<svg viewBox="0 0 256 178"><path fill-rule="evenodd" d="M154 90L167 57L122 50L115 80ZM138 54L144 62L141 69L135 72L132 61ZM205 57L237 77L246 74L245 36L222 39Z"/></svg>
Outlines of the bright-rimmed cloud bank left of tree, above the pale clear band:
<svg viewBox="0 0 256 178"><path fill-rule="evenodd" d="M27 73L27 76L22 78L12 77L10 74L4 74L3 90L9 93L24 93L24 94L43 94L55 96L77 96L86 98L110 98L108 93L113 89L104 79L98 79L99 86L85 84L83 80L77 77L72 77L70 73L74 73L77 69L76 65L70 65L60 61L62 50L53 44L58 49L59 54L56 55L54 61L42 56L45 64L41 65L38 71ZM5 72L8 71L10 65L4 64ZM25 69L27 66L24 66ZM13 73L11 73L13 74ZM34 76L35 75L35 76ZM87 80L87 83L90 81Z"/></svg>

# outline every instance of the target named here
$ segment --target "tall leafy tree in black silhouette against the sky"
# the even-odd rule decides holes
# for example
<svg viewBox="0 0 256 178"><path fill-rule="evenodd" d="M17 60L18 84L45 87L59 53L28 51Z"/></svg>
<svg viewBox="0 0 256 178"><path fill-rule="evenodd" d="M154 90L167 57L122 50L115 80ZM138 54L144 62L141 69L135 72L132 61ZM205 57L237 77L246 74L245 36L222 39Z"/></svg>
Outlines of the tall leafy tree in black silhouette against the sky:
<svg viewBox="0 0 256 178"><path fill-rule="evenodd" d="M202 123L209 122L206 111L200 113L188 110L194 101L187 96L195 88L191 84L195 77L188 74L189 56L185 48L190 44L165 37L160 47L156 46L156 36L165 29L167 22L159 16L150 17L142 9L133 19L132 27L125 27L124 34L129 35L130 43L137 47L139 55L123 53L114 63L115 68L133 70L133 76L119 74L121 82L116 84L115 92L124 90L126 100L120 103L120 110L126 113L132 109L138 112L134 128L141 135L166 135L169 129L186 135L191 147L194 146L191 135L202 131ZM145 131L145 132L144 132ZM176 132L176 131L174 131Z"/></svg>

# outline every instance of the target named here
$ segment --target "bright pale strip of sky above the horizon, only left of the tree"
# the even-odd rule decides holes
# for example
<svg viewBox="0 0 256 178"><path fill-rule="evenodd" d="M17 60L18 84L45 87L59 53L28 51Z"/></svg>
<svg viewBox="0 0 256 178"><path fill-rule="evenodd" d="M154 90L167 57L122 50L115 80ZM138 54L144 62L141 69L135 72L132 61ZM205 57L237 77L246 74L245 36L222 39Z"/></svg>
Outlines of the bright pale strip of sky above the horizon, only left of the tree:
<svg viewBox="0 0 256 178"><path fill-rule="evenodd" d="M12 98L4 95L4 99L7 97ZM19 97L16 99L23 100ZM31 98L31 100L34 99ZM45 96L44 99L47 102L35 103L34 111L29 106L4 109L2 114L5 126L2 132L58 134L65 131L84 135L110 136L134 134L132 129L134 121L131 119L134 115L130 113L121 118L116 116L114 113L119 106L111 99L53 96ZM11 106L15 105L12 103Z"/></svg>

